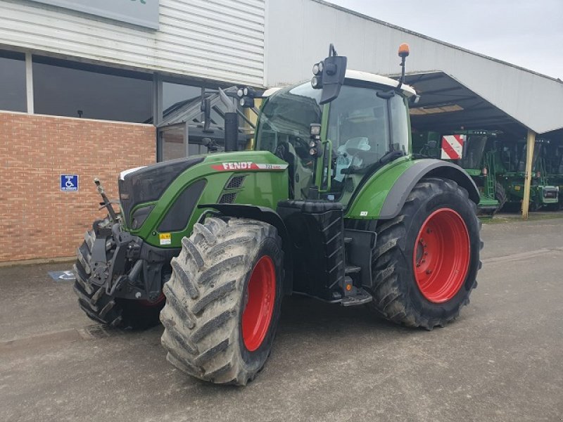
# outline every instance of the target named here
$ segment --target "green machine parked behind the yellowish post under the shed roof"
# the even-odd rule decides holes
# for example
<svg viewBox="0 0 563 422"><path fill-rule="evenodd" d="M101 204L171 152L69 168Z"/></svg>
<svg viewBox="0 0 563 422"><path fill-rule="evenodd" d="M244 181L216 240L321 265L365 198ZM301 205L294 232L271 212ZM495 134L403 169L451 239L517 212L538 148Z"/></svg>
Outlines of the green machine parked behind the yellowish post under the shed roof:
<svg viewBox="0 0 563 422"><path fill-rule="evenodd" d="M536 139L533 148L532 174L530 186L530 210L537 211L542 207L557 207L559 202L559 186L550 184L545 167L545 155L550 141ZM526 139L513 141L503 139L499 142L502 172L497 171L497 180L507 194L507 205L520 207L524 199L524 179L526 178Z"/></svg>

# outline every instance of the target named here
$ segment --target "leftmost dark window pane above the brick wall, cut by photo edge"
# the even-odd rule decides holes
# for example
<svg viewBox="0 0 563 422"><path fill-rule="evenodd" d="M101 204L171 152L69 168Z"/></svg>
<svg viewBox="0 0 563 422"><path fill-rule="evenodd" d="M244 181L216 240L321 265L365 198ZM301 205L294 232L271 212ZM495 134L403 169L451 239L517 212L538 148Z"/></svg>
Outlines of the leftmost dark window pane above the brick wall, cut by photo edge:
<svg viewBox="0 0 563 422"><path fill-rule="evenodd" d="M27 111L25 54L0 50L0 110Z"/></svg>

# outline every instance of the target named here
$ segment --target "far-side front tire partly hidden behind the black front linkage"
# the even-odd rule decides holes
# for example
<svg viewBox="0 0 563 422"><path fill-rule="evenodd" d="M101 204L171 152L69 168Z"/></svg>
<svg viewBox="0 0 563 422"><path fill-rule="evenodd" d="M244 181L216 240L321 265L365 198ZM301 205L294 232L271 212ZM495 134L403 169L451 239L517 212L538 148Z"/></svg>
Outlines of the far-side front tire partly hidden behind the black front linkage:
<svg viewBox="0 0 563 422"><path fill-rule="evenodd" d="M84 242L77 249L77 261L74 264L76 281L74 291L78 305L92 321L115 328L144 329L158 324L158 314L164 306L164 297L154 304L141 300L111 298L106 288L89 282L91 248L94 242L94 230L84 234ZM113 250L106 252L108 259Z"/></svg>

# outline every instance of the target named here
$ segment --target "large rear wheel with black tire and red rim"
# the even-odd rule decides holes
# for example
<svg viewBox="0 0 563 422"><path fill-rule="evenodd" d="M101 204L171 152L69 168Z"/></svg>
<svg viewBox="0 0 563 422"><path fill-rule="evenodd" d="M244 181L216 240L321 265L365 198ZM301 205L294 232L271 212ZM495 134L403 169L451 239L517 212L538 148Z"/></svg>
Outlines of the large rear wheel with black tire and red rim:
<svg viewBox="0 0 563 422"><path fill-rule="evenodd" d="M476 287L480 229L476 205L455 181L417 183L400 214L377 226L369 305L405 326L453 321Z"/></svg>

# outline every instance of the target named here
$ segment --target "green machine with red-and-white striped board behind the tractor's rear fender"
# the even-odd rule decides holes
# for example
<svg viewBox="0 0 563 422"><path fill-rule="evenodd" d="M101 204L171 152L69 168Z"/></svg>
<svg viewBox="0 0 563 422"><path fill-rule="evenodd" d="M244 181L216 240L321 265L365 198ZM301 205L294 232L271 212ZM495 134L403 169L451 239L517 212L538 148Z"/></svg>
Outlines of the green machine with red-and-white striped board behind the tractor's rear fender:
<svg viewBox="0 0 563 422"><path fill-rule="evenodd" d="M496 179L502 172L497 160L495 141L498 132L462 130L449 134L419 132L413 136L413 150L419 154L455 162L479 188L479 213L493 215L507 201L505 188Z"/></svg>

